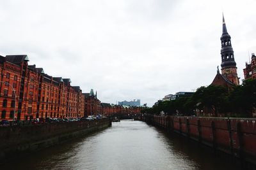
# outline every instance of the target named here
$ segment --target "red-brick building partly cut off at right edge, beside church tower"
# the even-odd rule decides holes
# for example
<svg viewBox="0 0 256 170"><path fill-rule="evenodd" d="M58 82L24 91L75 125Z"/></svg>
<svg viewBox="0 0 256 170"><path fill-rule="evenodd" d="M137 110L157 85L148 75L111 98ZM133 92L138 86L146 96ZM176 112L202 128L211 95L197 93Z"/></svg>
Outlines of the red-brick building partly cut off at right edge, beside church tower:
<svg viewBox="0 0 256 170"><path fill-rule="evenodd" d="M252 61L250 64L246 62L244 69L244 79L247 80L249 78L256 79L256 56L252 53Z"/></svg>

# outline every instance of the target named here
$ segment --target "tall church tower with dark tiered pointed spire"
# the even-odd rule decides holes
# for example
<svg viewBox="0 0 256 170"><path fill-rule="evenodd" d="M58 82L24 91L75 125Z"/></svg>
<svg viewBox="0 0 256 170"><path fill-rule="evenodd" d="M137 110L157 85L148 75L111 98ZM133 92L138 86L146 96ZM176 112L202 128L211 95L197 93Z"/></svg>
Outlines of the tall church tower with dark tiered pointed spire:
<svg viewBox="0 0 256 170"><path fill-rule="evenodd" d="M234 58L234 51L230 41L231 37L227 32L225 19L223 15L222 36L221 40L221 74L225 76L230 82L239 85L239 78L237 77L237 67Z"/></svg>

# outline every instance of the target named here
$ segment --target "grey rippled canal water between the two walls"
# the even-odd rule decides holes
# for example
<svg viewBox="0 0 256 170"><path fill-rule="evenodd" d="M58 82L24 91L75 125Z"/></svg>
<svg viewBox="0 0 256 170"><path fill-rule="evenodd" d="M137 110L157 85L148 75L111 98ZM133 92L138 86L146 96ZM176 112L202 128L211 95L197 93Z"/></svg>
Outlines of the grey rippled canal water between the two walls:
<svg viewBox="0 0 256 170"><path fill-rule="evenodd" d="M122 120L112 127L6 162L0 169L237 169L211 149Z"/></svg>

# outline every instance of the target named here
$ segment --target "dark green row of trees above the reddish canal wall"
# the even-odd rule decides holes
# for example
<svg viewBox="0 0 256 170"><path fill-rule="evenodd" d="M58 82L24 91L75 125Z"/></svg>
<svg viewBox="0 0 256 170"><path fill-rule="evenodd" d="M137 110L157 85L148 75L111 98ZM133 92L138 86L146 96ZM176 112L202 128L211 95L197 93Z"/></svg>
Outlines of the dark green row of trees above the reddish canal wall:
<svg viewBox="0 0 256 170"><path fill-rule="evenodd" d="M200 87L190 97L159 101L141 113L164 115L211 115L225 117L252 117L256 112L256 80L244 80L228 91L222 86Z"/></svg>

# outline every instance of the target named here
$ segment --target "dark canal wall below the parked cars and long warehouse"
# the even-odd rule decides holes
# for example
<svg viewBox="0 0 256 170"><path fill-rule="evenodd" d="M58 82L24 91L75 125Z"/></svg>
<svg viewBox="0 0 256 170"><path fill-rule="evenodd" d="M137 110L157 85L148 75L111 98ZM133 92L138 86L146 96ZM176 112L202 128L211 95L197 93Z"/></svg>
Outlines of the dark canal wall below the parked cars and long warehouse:
<svg viewBox="0 0 256 170"><path fill-rule="evenodd" d="M6 159L58 145L72 138L99 131L111 125L108 118L92 121L0 128L0 162Z"/></svg>

